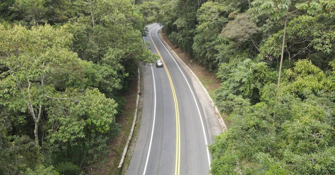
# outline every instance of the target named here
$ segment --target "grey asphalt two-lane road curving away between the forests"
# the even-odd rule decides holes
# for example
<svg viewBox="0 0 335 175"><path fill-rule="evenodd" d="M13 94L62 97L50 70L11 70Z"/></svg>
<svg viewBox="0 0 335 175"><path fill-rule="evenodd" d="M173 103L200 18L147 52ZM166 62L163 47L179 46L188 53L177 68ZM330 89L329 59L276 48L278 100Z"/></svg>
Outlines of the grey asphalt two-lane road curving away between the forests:
<svg viewBox="0 0 335 175"><path fill-rule="evenodd" d="M158 37L161 27L147 27L149 33L143 39L164 66L141 68L141 126L127 174L209 174L207 145L213 132L208 132L204 110L213 109L203 109L189 74Z"/></svg>

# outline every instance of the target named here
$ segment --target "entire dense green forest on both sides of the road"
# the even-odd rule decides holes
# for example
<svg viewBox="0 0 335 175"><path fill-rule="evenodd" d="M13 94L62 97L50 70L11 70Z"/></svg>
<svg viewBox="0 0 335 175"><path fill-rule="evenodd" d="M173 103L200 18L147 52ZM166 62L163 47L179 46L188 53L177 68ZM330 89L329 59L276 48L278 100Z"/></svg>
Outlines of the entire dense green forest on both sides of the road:
<svg viewBox="0 0 335 175"><path fill-rule="evenodd" d="M135 2L135 5L133 3ZM0 0L0 174L84 174L120 132L144 24L221 81L212 174L335 174L334 0Z"/></svg>

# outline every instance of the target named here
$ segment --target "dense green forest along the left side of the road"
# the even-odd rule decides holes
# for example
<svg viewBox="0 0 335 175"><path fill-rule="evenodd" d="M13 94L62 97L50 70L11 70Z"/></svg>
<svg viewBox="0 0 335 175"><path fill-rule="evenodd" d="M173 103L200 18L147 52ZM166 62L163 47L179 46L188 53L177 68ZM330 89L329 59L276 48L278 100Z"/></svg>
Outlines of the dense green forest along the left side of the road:
<svg viewBox="0 0 335 175"><path fill-rule="evenodd" d="M0 174L79 174L118 135L144 18L130 0L0 0Z"/></svg>

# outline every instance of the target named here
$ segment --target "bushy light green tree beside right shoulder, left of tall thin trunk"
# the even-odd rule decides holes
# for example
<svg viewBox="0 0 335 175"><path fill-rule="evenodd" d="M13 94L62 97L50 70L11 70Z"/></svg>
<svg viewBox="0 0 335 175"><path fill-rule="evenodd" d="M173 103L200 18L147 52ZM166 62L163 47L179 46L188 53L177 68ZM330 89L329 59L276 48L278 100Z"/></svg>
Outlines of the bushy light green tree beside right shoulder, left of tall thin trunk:
<svg viewBox="0 0 335 175"><path fill-rule="evenodd" d="M215 93L215 101L223 113L230 113L250 102L258 102L260 89L276 78L266 63L255 63L244 56L222 63L217 75L222 83Z"/></svg>

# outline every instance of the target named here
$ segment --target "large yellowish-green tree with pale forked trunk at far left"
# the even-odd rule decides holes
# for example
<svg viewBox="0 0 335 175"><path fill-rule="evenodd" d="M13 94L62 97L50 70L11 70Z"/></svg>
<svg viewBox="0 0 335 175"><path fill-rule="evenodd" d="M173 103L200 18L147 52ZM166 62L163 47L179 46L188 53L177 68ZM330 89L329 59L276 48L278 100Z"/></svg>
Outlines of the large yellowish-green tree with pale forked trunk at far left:
<svg viewBox="0 0 335 175"><path fill-rule="evenodd" d="M50 134L51 143L84 138L85 127L93 133L109 130L117 104L89 88L86 76L92 63L69 51L72 38L63 27L28 30L0 25L0 37L0 64L5 70L0 75L0 105L32 118L36 148L40 148L39 126Z"/></svg>

